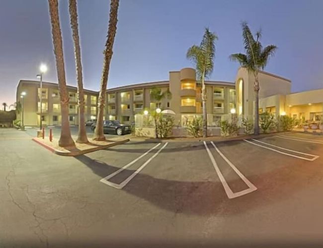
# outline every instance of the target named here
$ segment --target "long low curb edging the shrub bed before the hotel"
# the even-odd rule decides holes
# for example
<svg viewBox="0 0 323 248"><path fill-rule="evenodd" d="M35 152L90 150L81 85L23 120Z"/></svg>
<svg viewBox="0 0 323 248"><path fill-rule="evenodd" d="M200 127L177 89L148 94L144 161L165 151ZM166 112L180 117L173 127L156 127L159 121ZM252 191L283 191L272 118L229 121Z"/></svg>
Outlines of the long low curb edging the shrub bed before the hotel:
<svg viewBox="0 0 323 248"><path fill-rule="evenodd" d="M154 138L130 138L131 141L138 141L138 142L152 142L152 143L165 143L165 142L201 142L201 141L213 141L215 143L220 142L227 142L227 141L238 141L242 139L252 139L252 138L263 138L263 137L270 137L279 134L286 134L286 133L296 133L297 131L287 131L287 132L272 132L272 133L262 133L259 135L239 135L234 137L223 137L223 136L211 136L207 138L199 137L199 138L183 138L183 139L154 139Z"/></svg>

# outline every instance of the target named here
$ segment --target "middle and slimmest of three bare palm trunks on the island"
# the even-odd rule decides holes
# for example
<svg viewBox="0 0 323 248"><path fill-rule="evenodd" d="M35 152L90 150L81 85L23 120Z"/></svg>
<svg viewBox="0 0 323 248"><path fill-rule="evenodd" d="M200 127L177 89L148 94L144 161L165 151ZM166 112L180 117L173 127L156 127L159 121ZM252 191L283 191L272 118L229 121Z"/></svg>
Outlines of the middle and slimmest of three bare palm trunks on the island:
<svg viewBox="0 0 323 248"><path fill-rule="evenodd" d="M77 71L78 81L78 97L79 97L79 134L76 142L87 143L86 129L85 129L85 117L84 117L84 91L83 91L83 80L82 80L82 63L81 63L81 48L79 38L79 24L78 24L78 9L76 0L69 1L69 10L71 17L71 27L74 41L74 54Z"/></svg>

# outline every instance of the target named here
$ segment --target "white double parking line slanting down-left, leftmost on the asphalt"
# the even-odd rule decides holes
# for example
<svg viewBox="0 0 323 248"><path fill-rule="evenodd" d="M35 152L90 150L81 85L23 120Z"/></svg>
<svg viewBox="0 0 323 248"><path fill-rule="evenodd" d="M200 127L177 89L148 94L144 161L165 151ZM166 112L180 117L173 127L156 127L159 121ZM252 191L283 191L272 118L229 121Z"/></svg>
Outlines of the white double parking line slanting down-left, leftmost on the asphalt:
<svg viewBox="0 0 323 248"><path fill-rule="evenodd" d="M119 174L120 172L124 171L125 169L127 169L129 166L133 165L134 163L136 163L139 159L143 158L144 156L146 156L149 152L151 152L152 150L154 150L155 148L157 148L161 143L158 143L156 146L154 146L153 148L149 149L147 152L145 152L144 154L142 154L141 156L139 156L138 158L136 158L135 160L131 161L130 163L128 163L127 165L123 166L122 168L120 168L119 170L117 170L116 172L110 174L109 176L102 178L100 180L101 183L106 184L108 186L112 186L118 189L123 188L124 186L126 186L141 170L143 170L146 165L148 165L160 152L163 148L166 147L166 145L168 144L165 143L161 149L159 149L151 158L149 158L143 165L141 165L133 174L131 174L128 178L126 178L122 183L120 184L115 184L112 182L109 182L108 180L111 179L112 177L116 176L117 174Z"/></svg>

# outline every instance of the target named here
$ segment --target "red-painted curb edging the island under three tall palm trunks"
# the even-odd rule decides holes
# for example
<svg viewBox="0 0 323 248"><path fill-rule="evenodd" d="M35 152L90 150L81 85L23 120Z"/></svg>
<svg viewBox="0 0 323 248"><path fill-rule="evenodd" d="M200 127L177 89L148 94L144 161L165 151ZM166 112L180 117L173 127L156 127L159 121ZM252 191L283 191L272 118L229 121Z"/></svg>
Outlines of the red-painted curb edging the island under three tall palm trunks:
<svg viewBox="0 0 323 248"><path fill-rule="evenodd" d="M103 150L103 149L106 149L106 148L109 148L109 147L112 147L112 146L115 146L115 145L124 144L124 143L129 141L129 139L124 139L124 140L121 140L121 141L113 142L113 143L108 144L108 145L97 146L97 147L93 147L93 148L86 149L86 150L63 152L63 151L54 149L53 147L39 141L36 138L32 138L32 140L35 141L36 143L40 144L41 146L43 146L47 150L49 150L49 151L51 151L51 152L53 152L53 153L55 153L57 155L60 155L60 156L78 156L78 155L82 155L82 154L89 153L89 152Z"/></svg>

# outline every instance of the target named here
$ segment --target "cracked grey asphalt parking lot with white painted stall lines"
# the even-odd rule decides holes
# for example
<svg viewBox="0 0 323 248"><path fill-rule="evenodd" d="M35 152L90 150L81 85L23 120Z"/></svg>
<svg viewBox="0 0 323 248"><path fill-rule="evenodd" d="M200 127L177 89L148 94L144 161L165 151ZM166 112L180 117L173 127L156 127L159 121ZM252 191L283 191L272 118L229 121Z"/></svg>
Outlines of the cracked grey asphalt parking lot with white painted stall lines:
<svg viewBox="0 0 323 248"><path fill-rule="evenodd" d="M322 154L323 136L289 133L70 158L0 129L0 247L319 246Z"/></svg>

